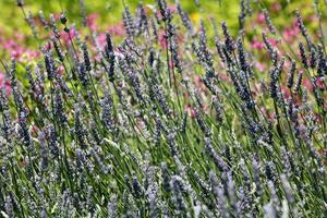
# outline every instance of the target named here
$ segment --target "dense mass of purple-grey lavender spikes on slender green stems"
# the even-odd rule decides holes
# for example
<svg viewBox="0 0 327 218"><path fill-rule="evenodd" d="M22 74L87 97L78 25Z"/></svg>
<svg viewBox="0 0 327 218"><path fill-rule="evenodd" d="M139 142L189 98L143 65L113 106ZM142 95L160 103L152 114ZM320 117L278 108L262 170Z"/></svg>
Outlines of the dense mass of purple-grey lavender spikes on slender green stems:
<svg viewBox="0 0 327 218"><path fill-rule="evenodd" d="M97 33L72 37L65 14L43 16L44 59L3 63L1 216L323 217L326 37L296 11L303 37L280 52L264 10L263 75L244 46L255 9L241 5L238 37L222 22L215 38L178 1L125 7L126 36L108 33L105 45Z"/></svg>

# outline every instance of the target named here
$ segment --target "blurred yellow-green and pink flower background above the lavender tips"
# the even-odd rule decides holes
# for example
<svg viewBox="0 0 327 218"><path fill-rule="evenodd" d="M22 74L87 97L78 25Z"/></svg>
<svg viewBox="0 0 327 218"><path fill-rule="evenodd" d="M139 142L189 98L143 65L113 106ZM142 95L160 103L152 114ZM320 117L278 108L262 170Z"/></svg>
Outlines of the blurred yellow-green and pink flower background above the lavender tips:
<svg viewBox="0 0 327 218"><path fill-rule="evenodd" d="M296 25L294 11L301 10L305 26L311 33L316 33L318 22L314 14L314 0L179 0L184 11L186 11L195 27L198 27L203 19L208 36L213 36L213 22L220 24L226 21L230 33L237 35L239 32L240 2L250 2L252 15L245 20L246 37L252 39L255 35L261 35L262 28L258 24L264 22L263 9L269 11L274 25L289 35L289 28ZM319 2L323 12L323 20L326 20L326 0L315 0ZM142 0L147 13L154 13L157 0ZM173 10L174 0L167 0ZM24 11L16 5L16 0L0 0L0 58L8 60L9 56L21 58L35 57L37 45L49 39L49 31L40 25L39 12L49 21L52 13L57 19L64 12L69 19L69 25L74 25L76 31L89 33L96 32L100 35L109 32L117 40L122 39L124 29L122 26L123 4L130 8L135 15L138 0L24 0ZM83 16L85 14L85 16ZM33 37L33 31L28 26L25 17L34 21L38 32L38 41ZM86 17L88 28L81 28L83 17ZM59 25L63 29L62 25ZM323 26L326 29L326 26ZM287 32L288 31L288 32ZM283 33L282 33L283 34ZM210 40L213 41L213 40ZM24 57L23 57L24 59ZM24 59L25 60L25 59Z"/></svg>

